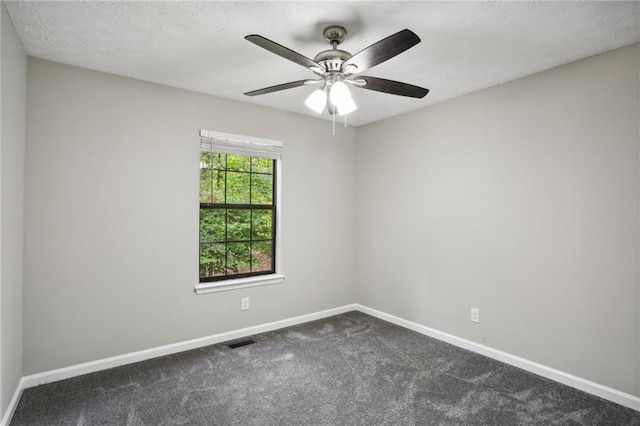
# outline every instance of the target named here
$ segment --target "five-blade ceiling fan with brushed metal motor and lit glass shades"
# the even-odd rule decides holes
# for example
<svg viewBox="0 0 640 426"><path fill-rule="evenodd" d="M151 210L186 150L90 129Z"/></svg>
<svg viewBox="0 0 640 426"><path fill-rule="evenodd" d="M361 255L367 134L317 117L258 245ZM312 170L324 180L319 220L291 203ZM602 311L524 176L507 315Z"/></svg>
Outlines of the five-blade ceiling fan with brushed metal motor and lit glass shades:
<svg viewBox="0 0 640 426"><path fill-rule="evenodd" d="M346 36L347 30L344 27L332 25L325 28L323 37L327 43L331 44L331 49L318 53L313 60L260 35L252 34L246 36L245 39L251 43L308 68L318 78L265 87L247 92L245 95L264 95L280 90L318 84L322 85L322 87L311 93L305 104L317 113L321 113L326 106L329 114L345 115L357 108L347 84L361 89L411 98L423 98L429 93L429 89L412 84L358 75L420 43L420 38L413 31L407 29L398 31L366 47L355 55L337 48Z"/></svg>

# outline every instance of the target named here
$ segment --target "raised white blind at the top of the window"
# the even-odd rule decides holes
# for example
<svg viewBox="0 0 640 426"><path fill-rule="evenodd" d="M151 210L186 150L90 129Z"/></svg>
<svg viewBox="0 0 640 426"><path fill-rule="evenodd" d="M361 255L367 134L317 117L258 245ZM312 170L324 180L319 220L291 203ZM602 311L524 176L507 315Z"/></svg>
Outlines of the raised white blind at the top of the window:
<svg viewBox="0 0 640 426"><path fill-rule="evenodd" d="M200 150L251 157L282 158L282 142L232 133L200 130Z"/></svg>

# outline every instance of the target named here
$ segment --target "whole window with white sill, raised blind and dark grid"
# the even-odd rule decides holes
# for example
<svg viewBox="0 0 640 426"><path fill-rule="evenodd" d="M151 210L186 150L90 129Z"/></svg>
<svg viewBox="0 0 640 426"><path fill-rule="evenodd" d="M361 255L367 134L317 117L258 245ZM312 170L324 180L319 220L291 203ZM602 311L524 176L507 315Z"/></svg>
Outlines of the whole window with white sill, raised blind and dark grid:
<svg viewBox="0 0 640 426"><path fill-rule="evenodd" d="M199 284L210 292L282 281L281 143L201 130Z"/></svg>

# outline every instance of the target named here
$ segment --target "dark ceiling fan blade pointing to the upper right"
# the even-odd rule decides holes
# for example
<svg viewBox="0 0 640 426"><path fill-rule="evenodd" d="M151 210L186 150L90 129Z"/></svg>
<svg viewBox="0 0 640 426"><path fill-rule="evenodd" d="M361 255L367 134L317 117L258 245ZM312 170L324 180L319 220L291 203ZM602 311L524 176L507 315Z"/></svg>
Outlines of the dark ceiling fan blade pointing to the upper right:
<svg viewBox="0 0 640 426"><path fill-rule="evenodd" d="M420 43L420 37L413 31L407 29L398 31L353 55L344 63L343 69L347 69L349 65L355 65L357 69L350 73L362 72L399 55L418 43Z"/></svg>

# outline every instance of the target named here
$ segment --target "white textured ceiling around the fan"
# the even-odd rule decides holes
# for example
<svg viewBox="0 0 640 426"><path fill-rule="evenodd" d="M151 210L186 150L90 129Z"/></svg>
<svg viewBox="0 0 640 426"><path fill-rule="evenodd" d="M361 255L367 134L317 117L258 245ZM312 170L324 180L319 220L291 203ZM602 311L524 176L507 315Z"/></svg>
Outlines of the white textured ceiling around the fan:
<svg viewBox="0 0 640 426"><path fill-rule="evenodd" d="M314 87L244 92L314 78L246 40L260 34L309 58L346 27L356 53L408 28L422 42L366 72L427 87L424 99L354 88L363 125L640 40L638 2L3 2L31 56L308 115ZM325 113L324 118L328 118Z"/></svg>

